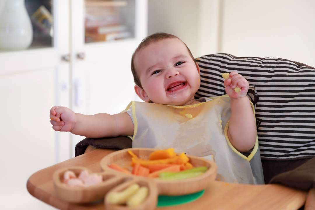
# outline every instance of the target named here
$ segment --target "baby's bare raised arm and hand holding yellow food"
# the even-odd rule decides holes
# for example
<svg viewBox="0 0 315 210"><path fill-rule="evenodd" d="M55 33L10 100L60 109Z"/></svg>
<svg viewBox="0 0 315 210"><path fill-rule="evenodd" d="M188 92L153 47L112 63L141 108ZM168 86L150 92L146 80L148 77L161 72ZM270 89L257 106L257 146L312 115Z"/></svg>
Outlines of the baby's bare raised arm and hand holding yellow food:
<svg viewBox="0 0 315 210"><path fill-rule="evenodd" d="M256 120L249 99L246 96L249 89L247 80L233 71L224 81L226 94L231 98L231 118L227 135L231 144L240 152L253 148L256 141ZM236 93L234 88L239 87Z"/></svg>

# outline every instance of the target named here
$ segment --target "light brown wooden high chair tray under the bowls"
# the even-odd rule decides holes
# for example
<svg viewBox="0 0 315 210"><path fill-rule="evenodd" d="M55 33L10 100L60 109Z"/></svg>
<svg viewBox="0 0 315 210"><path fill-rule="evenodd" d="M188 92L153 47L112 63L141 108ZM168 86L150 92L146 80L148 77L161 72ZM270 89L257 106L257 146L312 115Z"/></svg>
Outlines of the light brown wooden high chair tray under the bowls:
<svg viewBox="0 0 315 210"><path fill-rule="evenodd" d="M104 209L103 202L73 204L60 200L54 190L52 174L55 170L70 166L83 166L100 172L100 160L115 150L95 149L89 153L44 168L27 181L32 196L59 209ZM196 201L164 209L298 209L306 201L306 192L278 184L250 185L214 181L204 195Z"/></svg>

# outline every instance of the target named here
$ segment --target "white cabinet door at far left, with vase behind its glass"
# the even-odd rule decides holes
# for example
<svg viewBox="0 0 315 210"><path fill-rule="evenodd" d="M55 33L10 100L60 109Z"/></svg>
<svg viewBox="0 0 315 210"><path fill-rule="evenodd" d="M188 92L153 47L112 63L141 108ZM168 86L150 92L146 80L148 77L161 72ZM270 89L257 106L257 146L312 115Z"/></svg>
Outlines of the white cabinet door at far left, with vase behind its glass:
<svg viewBox="0 0 315 210"><path fill-rule="evenodd" d="M30 48L0 50L2 209L49 208L27 192L27 179L42 168L69 159L69 134L53 131L49 122L52 106L69 105L70 65L60 59L69 54L69 2L25 3L30 15L39 6L45 7L53 17L53 33L51 36L33 25Z"/></svg>

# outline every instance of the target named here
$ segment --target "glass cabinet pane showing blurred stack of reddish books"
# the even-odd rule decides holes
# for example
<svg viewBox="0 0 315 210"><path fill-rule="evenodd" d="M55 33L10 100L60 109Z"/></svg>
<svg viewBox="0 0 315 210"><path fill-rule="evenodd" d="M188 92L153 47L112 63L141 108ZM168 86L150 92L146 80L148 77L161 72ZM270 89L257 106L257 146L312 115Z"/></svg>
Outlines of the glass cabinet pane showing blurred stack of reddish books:
<svg viewBox="0 0 315 210"><path fill-rule="evenodd" d="M85 43L135 37L135 0L85 0Z"/></svg>

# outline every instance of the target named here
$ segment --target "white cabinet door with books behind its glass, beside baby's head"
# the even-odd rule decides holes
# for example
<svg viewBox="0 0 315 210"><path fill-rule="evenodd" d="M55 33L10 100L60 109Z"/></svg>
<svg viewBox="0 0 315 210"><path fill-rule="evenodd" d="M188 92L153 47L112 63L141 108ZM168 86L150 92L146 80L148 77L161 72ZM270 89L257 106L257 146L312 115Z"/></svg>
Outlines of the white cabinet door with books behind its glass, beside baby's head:
<svg viewBox="0 0 315 210"><path fill-rule="evenodd" d="M147 2L75 2L72 4L73 109L85 114L119 113L136 99L130 61L146 36ZM81 24L77 24L78 20ZM72 148L83 138L73 135Z"/></svg>

